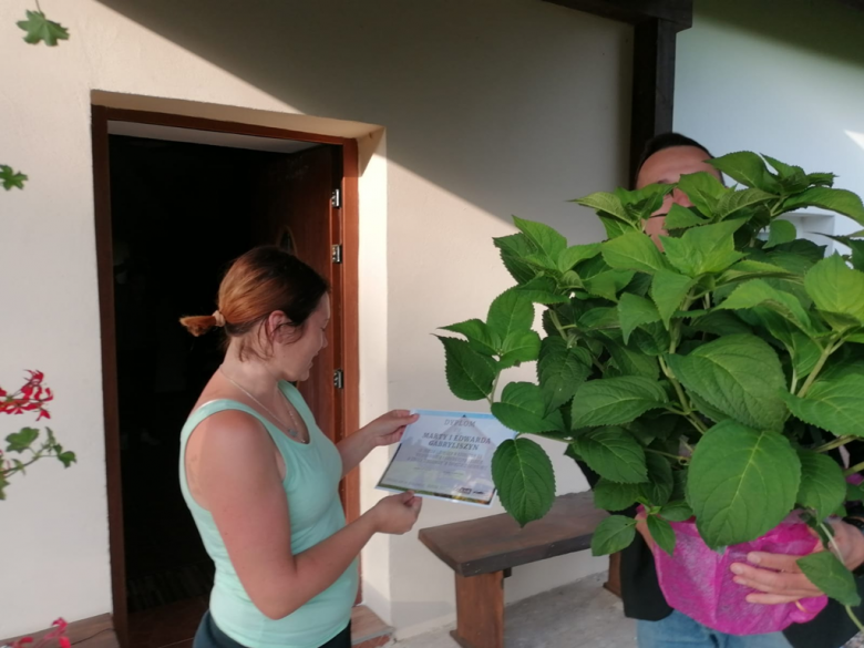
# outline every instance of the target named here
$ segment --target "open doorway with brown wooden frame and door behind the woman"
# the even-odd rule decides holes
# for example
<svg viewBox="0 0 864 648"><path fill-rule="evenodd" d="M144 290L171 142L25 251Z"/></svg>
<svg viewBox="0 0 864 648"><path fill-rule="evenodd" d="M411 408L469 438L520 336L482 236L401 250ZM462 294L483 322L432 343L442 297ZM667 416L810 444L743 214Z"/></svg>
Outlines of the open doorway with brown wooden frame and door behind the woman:
<svg viewBox="0 0 864 648"><path fill-rule="evenodd" d="M191 638L213 583L181 495L177 441L222 360L220 338L192 338L177 320L215 309L230 260L279 245L328 278L331 343L298 387L331 440L356 426L351 148L111 112L94 107L114 625L124 648L161 648ZM341 491L349 518L356 484Z"/></svg>

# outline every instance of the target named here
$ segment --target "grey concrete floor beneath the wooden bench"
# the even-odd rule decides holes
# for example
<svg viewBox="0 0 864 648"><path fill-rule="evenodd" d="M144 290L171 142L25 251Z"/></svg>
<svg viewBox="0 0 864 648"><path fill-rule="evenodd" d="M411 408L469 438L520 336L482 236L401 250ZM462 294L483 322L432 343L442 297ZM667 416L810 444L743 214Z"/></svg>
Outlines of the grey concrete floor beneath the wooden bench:
<svg viewBox="0 0 864 648"><path fill-rule="evenodd" d="M635 648L636 624L621 601L603 589L605 574L508 605L506 648ZM457 648L448 627L398 641L394 648Z"/></svg>

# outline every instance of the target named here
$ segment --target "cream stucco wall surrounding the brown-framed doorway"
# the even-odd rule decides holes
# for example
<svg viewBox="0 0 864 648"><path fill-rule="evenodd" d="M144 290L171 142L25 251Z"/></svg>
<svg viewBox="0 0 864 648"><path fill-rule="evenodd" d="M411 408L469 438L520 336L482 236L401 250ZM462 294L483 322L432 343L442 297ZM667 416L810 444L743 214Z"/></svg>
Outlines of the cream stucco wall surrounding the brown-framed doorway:
<svg viewBox="0 0 864 648"><path fill-rule="evenodd" d="M601 237L565 200L625 181L629 113L629 29L538 0L73 0L45 7L72 32L58 49L21 41L14 23L30 8L0 6L0 55L14 61L0 69L0 163L30 176L0 195L0 384L43 370L53 426L80 463L37 465L0 503L0 637L111 609L92 91L295 130L387 130L360 185L363 420L481 408L450 395L430 333L483 316L508 286L491 238L513 232L511 214L573 243ZM562 450L559 492L583 490ZM364 507L385 461L382 450L364 465ZM482 513L430 501L420 526ZM604 567L582 554L518 568L507 595ZM367 601L401 635L453 618L452 573L415 533L376 538L363 578Z"/></svg>

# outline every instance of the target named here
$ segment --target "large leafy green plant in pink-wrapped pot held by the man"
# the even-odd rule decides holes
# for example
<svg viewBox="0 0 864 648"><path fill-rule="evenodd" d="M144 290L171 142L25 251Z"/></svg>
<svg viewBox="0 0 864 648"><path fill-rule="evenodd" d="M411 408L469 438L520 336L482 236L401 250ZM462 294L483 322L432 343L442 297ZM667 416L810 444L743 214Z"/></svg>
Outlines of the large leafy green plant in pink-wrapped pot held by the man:
<svg viewBox="0 0 864 648"><path fill-rule="evenodd" d="M568 246L553 228L516 218L520 233L495 245L517 285L485 321L443 327L464 338L440 338L448 383L461 399L488 400L518 433L497 449L492 471L521 524L542 517L555 495L552 463L526 435L555 439L599 475L598 507L644 507L667 598L669 588L689 596L706 585L670 583L688 573L688 557L704 573L706 559L780 547L806 554L804 574L856 605L852 575L831 552L811 553L806 525L830 547L825 518L861 500L846 476L864 465L844 470L827 453L864 436L864 230L834 237L850 256L824 258L782 216L817 207L864 225L864 206L833 188L830 173L749 152L710 163L739 185L682 176L677 186L695 206L671 207L659 245L642 222L671 185L575 200L597 212L608 235L600 244ZM532 328L535 305L544 337ZM536 381L498 393L502 371L531 361ZM595 555L629 545L635 525L606 518ZM741 634L747 592L731 576L721 582L698 605L722 598ZM740 605L729 608L729 597ZM803 603L750 605L753 632L806 620L825 601ZM717 609L703 613L695 618L724 629Z"/></svg>

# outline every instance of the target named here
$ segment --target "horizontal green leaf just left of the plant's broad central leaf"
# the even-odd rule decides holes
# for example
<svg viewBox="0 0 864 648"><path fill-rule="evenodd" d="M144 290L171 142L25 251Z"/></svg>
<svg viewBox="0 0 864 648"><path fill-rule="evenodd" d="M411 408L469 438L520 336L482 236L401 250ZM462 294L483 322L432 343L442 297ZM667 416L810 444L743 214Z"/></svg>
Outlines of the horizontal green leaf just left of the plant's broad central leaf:
<svg viewBox="0 0 864 648"><path fill-rule="evenodd" d="M640 376L589 380L573 398L573 428L629 423L668 401L660 383Z"/></svg>

